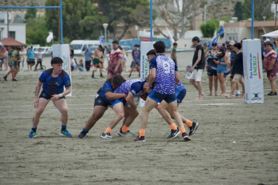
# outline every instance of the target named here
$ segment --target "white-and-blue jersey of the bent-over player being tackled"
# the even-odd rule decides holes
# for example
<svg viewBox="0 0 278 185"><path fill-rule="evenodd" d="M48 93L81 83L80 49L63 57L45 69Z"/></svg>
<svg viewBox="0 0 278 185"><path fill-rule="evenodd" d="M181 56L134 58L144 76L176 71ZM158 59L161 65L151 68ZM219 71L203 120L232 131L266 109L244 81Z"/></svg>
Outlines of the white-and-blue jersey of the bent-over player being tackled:
<svg viewBox="0 0 278 185"><path fill-rule="evenodd" d="M146 82L145 79L130 79L123 82L114 93L125 93L131 92L134 96L143 94L143 85Z"/></svg>

